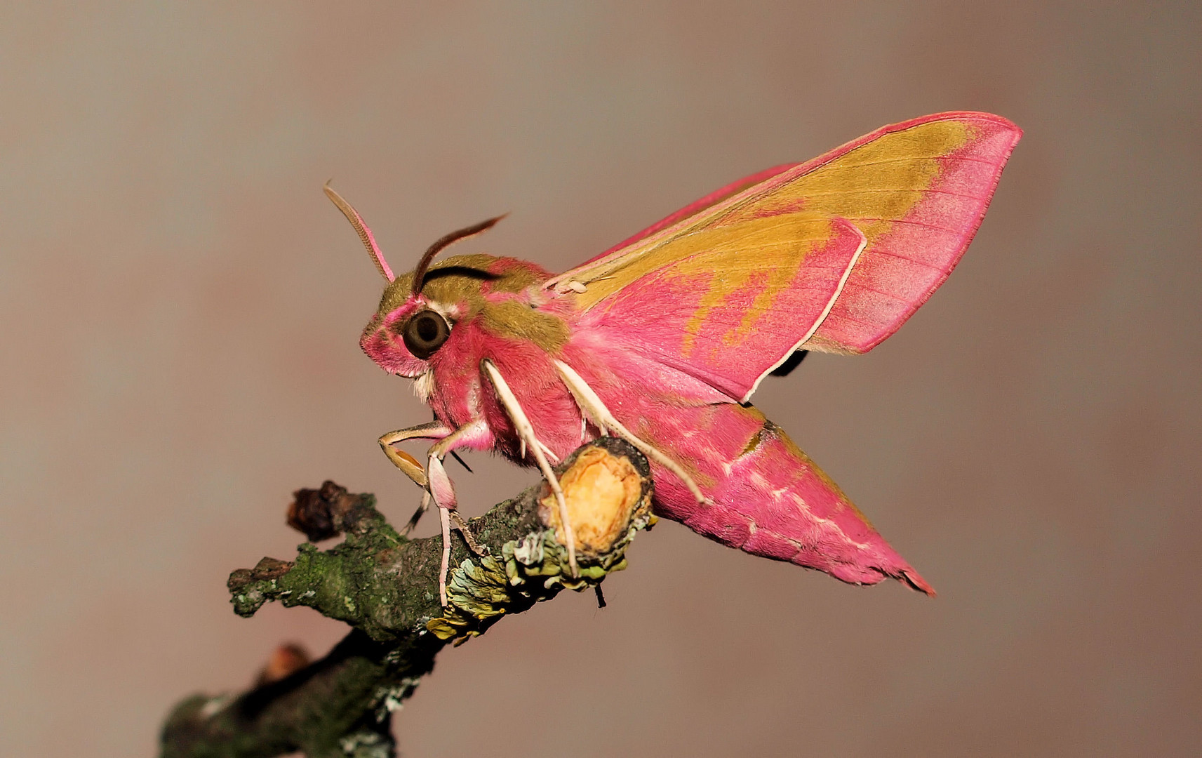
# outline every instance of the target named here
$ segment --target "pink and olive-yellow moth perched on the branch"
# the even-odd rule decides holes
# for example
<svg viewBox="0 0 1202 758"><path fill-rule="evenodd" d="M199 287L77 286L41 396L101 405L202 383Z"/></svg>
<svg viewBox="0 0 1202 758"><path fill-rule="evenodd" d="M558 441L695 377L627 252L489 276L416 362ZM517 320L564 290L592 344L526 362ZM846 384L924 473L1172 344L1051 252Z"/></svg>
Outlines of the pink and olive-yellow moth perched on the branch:
<svg viewBox="0 0 1202 758"><path fill-rule="evenodd" d="M444 605L452 521L471 541L446 455L536 466L566 525L552 466L602 434L648 456L659 516L846 582L893 578L933 594L749 401L805 351L867 353L895 332L964 254L1020 136L974 112L885 126L728 184L558 276L483 254L433 262L499 219L442 237L395 276L327 185L387 280L361 345L434 410L380 445L424 490L410 525L438 507ZM395 446L410 439L434 440L426 466Z"/></svg>

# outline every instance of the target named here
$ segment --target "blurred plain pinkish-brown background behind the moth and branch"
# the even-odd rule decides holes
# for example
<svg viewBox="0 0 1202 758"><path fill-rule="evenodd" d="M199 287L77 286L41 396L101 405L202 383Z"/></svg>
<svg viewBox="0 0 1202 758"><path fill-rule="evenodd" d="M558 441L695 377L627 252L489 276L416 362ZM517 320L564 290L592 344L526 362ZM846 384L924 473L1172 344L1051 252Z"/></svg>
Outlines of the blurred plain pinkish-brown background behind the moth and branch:
<svg viewBox="0 0 1202 758"><path fill-rule="evenodd" d="M956 274L757 395L940 597L665 523L603 611L447 651L401 747L1198 754L1197 4L429 5L0 11L0 752L150 756L179 698L341 636L224 586L293 553L297 487L417 501L376 437L427 410L358 350L381 282L326 179L394 267L508 211L477 248L560 271L972 108L1027 136ZM534 480L471 462L470 515Z"/></svg>

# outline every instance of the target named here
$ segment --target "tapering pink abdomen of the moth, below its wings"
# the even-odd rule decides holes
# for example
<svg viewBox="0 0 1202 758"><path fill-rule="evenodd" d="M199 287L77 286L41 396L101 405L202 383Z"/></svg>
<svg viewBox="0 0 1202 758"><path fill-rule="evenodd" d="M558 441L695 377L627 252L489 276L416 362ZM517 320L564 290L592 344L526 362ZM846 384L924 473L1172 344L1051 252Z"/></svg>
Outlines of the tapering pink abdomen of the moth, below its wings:
<svg viewBox="0 0 1202 758"><path fill-rule="evenodd" d="M695 472L713 503L700 505L678 479L656 468L656 514L732 547L843 581L893 578L934 594L839 486L757 409L732 403L674 409L648 420L644 432Z"/></svg>

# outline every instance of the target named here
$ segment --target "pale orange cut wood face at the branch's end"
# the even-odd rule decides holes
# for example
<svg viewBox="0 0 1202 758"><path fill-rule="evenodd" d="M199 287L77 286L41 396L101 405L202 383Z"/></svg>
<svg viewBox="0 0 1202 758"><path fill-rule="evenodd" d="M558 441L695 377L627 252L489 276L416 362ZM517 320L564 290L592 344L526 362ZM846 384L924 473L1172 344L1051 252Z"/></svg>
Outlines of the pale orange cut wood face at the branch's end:
<svg viewBox="0 0 1202 758"><path fill-rule="evenodd" d="M607 552L626 534L631 514L643 495L633 464L599 448L583 451L559 484L576 535L576 551L587 556ZM555 539L565 543L554 496L548 493L541 503L541 513L547 525L554 527Z"/></svg>

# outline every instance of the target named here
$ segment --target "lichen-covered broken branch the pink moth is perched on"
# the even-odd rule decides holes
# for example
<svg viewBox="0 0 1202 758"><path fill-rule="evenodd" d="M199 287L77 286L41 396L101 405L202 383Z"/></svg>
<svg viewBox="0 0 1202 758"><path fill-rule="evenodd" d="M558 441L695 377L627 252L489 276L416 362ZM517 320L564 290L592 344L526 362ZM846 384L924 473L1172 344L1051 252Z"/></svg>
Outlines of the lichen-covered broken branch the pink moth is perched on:
<svg viewBox="0 0 1202 758"><path fill-rule="evenodd" d="M263 558L230 575L234 612L270 600L308 605L353 630L323 659L237 695L194 695L162 732L163 758L389 757L388 715L434 665L446 642L483 633L564 588L599 586L625 568L625 549L648 526L647 461L620 439L601 438L557 468L576 538L579 575L567 568L565 533L546 482L495 505L468 527L478 552L452 532L448 605L439 603L441 538L406 539L370 495L326 482L297 492L288 522L319 540L294 561Z"/></svg>

